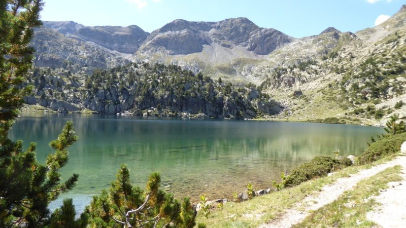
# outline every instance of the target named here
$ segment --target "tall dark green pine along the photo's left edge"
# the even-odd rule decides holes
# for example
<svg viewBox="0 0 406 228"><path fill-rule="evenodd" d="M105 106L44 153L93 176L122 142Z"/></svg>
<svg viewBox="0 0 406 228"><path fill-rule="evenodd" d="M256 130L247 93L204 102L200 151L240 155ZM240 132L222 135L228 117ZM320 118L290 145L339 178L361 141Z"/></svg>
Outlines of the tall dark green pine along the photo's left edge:
<svg viewBox="0 0 406 228"><path fill-rule="evenodd" d="M31 91L23 87L32 67L34 49L29 46L33 28L41 25L41 0L0 0L0 227L44 227L51 222L85 224L74 220L71 205L64 202L50 218L48 204L72 189L78 175L61 183L58 172L67 162L67 150L77 140L73 124L67 123L59 137L50 143L55 153L45 165L36 159L36 143L23 150L22 141L8 138L19 114L22 98ZM69 215L70 214L70 215ZM63 227L63 225L59 226ZM68 227L68 226L65 226Z"/></svg>

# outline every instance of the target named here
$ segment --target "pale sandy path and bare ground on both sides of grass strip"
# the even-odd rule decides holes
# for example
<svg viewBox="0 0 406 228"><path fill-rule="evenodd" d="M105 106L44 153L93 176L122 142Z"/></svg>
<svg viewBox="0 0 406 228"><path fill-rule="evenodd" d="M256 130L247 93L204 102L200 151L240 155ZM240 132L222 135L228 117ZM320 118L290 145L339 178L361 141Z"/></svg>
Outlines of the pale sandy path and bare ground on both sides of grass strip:
<svg viewBox="0 0 406 228"><path fill-rule="evenodd" d="M281 215L279 218L271 220L266 224L262 224L259 227L291 227L294 224L300 223L304 218L310 215L311 211L317 210L327 204L332 203L345 191L352 189L360 180L374 176L375 174L396 165L401 165L405 169L406 157L401 156L385 164L377 165L370 169L361 170L357 174L353 174L348 178L340 178L333 184L324 186L317 196L305 198L302 202L295 205L294 208L287 210L286 213ZM384 193L384 198L377 198L378 200L385 202L385 204L383 204L383 211L374 212L378 214L371 213L370 217L377 219L371 220L376 221L383 227L406 227L406 182L403 181L401 185L389 188L387 189L387 192ZM399 195L401 195L401 198ZM397 206L393 205L392 202L397 202ZM385 207L391 209L389 210ZM305 209L300 210L300 208ZM389 224L388 220L391 220L393 226ZM403 225L396 226L398 224Z"/></svg>

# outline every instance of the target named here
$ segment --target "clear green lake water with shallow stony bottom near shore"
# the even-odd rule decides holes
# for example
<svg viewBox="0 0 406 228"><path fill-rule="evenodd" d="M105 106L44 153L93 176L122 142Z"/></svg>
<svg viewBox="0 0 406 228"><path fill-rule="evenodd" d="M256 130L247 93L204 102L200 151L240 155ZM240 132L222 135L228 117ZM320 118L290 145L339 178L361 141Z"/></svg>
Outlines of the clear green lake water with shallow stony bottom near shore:
<svg viewBox="0 0 406 228"><path fill-rule="evenodd" d="M25 114L10 137L26 146L37 142L37 159L44 163L53 153L48 143L66 121L74 122L79 140L69 148L62 176L80 176L63 197L74 198L79 209L110 186L123 163L134 184L145 186L149 174L159 171L162 187L176 197L196 200L206 193L215 199L243 191L248 182L269 187L281 172L317 155L333 156L336 149L359 155L371 135L383 133L349 125Z"/></svg>

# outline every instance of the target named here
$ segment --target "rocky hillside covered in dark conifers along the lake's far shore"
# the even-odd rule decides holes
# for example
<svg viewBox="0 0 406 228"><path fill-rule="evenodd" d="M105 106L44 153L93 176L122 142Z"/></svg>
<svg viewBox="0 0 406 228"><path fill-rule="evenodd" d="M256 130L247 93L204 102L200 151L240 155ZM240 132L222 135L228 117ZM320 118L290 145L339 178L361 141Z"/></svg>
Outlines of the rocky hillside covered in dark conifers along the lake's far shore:
<svg viewBox="0 0 406 228"><path fill-rule="evenodd" d="M253 84L235 87L176 65L131 63L84 76L36 68L28 84L36 88L28 103L60 112L252 119L282 110Z"/></svg>

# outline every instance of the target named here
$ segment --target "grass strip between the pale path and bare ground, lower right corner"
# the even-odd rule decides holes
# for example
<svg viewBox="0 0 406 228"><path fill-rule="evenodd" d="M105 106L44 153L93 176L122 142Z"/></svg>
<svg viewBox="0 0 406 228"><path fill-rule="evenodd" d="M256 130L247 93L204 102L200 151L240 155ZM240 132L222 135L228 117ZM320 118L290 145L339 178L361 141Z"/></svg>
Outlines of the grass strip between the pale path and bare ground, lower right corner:
<svg viewBox="0 0 406 228"><path fill-rule="evenodd" d="M400 181L401 167L395 166L361 180L354 189L346 191L337 200L308 216L293 227L371 227L373 222L366 219L366 213L377 206L371 196L379 195L381 189L391 181Z"/></svg>

